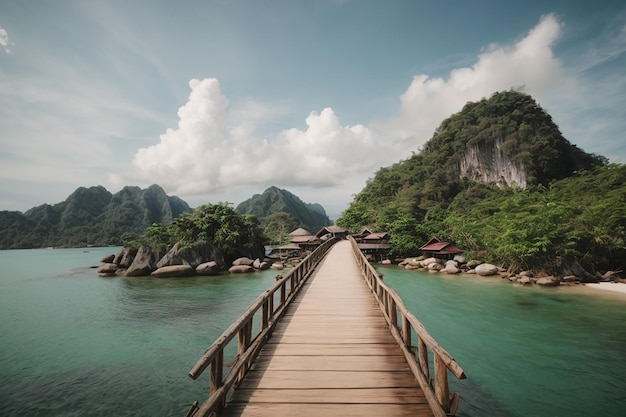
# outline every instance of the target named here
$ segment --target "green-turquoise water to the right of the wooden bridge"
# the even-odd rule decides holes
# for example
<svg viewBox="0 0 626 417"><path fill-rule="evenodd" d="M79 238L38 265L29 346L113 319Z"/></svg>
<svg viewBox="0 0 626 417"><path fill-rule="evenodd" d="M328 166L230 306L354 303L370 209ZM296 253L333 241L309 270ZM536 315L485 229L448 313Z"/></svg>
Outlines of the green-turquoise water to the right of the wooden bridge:
<svg viewBox="0 0 626 417"><path fill-rule="evenodd" d="M451 383L461 393L457 415L624 415L624 297L379 271L468 375Z"/></svg>

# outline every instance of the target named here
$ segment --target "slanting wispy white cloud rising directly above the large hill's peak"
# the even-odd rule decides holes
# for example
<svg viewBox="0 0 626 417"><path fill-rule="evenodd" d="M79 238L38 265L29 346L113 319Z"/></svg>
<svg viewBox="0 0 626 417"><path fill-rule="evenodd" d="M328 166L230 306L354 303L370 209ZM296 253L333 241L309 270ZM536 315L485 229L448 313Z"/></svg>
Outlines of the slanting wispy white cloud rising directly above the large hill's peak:
<svg viewBox="0 0 626 417"><path fill-rule="evenodd" d="M414 76L400 97L401 114L385 123L385 128L420 145L430 139L443 119L460 111L468 101L522 85L533 96L564 89L572 81L552 54L560 31L556 18L546 15L515 45L490 45L474 65L452 70L448 79Z"/></svg>

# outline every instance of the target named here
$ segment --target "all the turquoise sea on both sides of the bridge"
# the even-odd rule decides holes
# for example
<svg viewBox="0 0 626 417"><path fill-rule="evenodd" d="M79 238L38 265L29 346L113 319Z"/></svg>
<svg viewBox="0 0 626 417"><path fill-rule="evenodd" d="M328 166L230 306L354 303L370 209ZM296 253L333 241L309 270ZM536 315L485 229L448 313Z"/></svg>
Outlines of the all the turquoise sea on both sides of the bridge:
<svg viewBox="0 0 626 417"><path fill-rule="evenodd" d="M184 416L208 393L187 372L276 276L98 276L117 250L0 251L0 416ZM457 416L624 414L623 295L378 270L465 370Z"/></svg>

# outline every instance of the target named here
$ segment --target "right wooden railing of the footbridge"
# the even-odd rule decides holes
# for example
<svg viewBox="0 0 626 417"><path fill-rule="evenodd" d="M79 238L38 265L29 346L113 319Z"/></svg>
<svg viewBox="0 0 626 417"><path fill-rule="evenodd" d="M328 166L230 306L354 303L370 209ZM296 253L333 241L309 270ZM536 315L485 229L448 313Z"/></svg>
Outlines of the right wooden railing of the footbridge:
<svg viewBox="0 0 626 417"><path fill-rule="evenodd" d="M391 333L400 345L415 378L419 382L436 417L454 415L459 395L450 394L448 371L458 379L465 379L465 372L437 341L428 333L419 320L406 308L400 296L389 286L367 261L356 241L348 238L357 264L374 293ZM412 334L417 335L417 352L412 345ZM414 353L415 352L415 353ZM430 383L429 355L433 357L434 387Z"/></svg>

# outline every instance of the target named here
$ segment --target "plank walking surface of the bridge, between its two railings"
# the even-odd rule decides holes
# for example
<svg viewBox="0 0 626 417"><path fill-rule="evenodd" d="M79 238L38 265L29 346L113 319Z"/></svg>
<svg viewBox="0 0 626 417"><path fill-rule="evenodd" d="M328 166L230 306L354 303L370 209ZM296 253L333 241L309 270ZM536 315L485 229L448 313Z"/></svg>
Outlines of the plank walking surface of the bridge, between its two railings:
<svg viewBox="0 0 626 417"><path fill-rule="evenodd" d="M353 260L333 246L223 415L433 415Z"/></svg>

